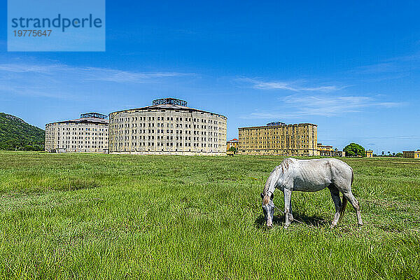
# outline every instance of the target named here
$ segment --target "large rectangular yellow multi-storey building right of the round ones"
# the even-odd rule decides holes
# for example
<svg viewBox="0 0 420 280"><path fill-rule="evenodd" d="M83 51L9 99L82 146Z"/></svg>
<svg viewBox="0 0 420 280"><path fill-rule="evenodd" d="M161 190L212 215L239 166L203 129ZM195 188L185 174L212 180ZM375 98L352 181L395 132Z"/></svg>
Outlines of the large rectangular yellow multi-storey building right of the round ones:
<svg viewBox="0 0 420 280"><path fill-rule="evenodd" d="M246 155L318 155L317 125L268 123L260 127L239 127L239 148Z"/></svg>

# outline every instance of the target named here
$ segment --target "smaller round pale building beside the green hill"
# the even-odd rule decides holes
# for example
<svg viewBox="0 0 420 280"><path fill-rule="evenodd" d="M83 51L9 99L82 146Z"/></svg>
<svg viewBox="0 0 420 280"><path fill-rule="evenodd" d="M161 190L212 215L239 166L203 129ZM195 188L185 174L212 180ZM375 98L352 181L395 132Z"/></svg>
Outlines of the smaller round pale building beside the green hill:
<svg viewBox="0 0 420 280"><path fill-rule="evenodd" d="M108 153L108 120L99 113L86 113L76 120L45 125L48 153Z"/></svg>

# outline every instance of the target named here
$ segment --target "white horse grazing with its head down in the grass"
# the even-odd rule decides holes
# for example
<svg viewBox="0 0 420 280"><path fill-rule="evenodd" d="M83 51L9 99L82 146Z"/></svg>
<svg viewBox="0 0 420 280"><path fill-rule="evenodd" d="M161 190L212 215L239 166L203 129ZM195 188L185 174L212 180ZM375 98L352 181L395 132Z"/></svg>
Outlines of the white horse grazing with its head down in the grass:
<svg viewBox="0 0 420 280"><path fill-rule="evenodd" d="M335 216L331 228L342 220L347 200L356 209L358 225L363 225L360 204L351 193L351 183L353 183L353 169L341 160L335 158L316 160L286 158L279 166L274 168L261 193L262 211L267 227L273 225L275 188L279 188L284 193L284 212L286 216L284 228L288 228L290 222L293 221L292 202L290 200L292 191L316 192L324 188L330 190L335 204ZM340 192L343 194L343 202L339 199Z"/></svg>

